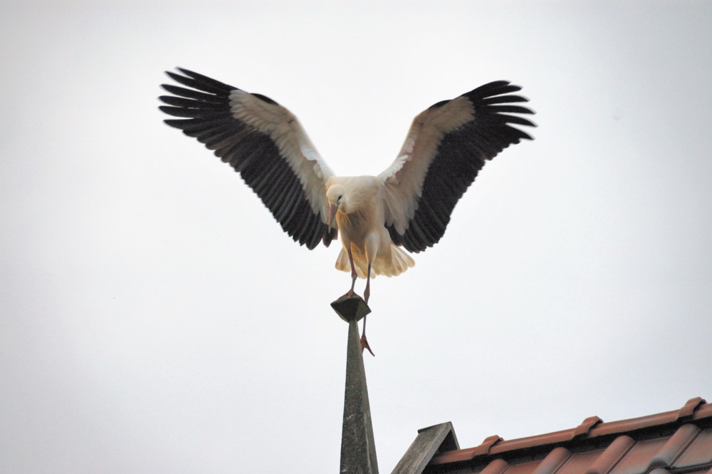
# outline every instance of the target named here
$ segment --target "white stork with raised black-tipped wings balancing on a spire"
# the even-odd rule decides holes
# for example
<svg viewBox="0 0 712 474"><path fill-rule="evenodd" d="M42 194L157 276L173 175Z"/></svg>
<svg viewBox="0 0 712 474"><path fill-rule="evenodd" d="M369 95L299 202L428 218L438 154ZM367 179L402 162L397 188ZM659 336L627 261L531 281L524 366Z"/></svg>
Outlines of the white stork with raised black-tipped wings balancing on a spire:
<svg viewBox="0 0 712 474"><path fill-rule="evenodd" d="M432 105L414 119L396 160L377 176L339 177L317 153L297 118L271 98L248 93L179 68L167 72L185 87L163 84L173 94L160 109L165 120L197 138L230 163L261 198L282 229L300 245L326 246L341 233L336 268L366 279L388 277L414 265L403 252L420 252L443 236L456 202L486 160L522 139L515 125L535 126L515 114L526 98L507 81L480 86ZM362 346L367 347L365 319ZM370 350L370 349L369 349Z"/></svg>

